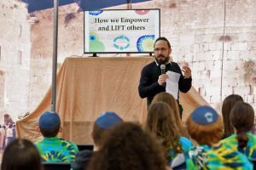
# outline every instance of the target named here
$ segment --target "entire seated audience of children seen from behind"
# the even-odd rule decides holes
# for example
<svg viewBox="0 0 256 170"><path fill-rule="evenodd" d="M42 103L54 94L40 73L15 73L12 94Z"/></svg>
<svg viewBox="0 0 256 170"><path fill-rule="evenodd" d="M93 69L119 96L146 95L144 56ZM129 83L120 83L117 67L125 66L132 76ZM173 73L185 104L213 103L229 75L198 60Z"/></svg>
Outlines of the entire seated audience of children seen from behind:
<svg viewBox="0 0 256 170"><path fill-rule="evenodd" d="M73 170L253 169L253 107L232 94L224 99L222 115L223 119L212 107L200 106L190 114L186 129L176 99L160 93L148 108L143 128L123 122L114 112L105 112L93 127L96 150L79 151L73 142L57 137L61 119L47 111L38 122L44 139L35 144L26 139L11 141L3 153L1 169L41 170L44 161L69 162ZM186 137L198 145L193 146Z"/></svg>

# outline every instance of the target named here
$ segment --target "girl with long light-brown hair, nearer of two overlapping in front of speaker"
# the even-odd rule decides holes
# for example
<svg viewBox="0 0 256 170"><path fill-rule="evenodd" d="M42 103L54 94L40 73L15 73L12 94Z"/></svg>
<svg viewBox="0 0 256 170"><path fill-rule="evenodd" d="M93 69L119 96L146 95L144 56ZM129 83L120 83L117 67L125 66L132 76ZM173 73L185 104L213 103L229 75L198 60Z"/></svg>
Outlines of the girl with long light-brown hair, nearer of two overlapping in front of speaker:
<svg viewBox="0 0 256 170"><path fill-rule="evenodd" d="M176 118L180 120L164 102L152 103L148 108L146 130L163 144L169 164L178 153L188 151L192 146L189 139L181 136Z"/></svg>

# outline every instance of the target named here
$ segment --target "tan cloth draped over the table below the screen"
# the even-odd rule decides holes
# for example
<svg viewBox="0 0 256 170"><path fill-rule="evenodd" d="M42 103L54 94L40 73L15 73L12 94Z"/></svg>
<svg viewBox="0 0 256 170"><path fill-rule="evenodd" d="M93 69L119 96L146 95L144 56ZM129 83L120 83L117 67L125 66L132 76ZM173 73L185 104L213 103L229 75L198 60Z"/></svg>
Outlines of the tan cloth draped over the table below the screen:
<svg viewBox="0 0 256 170"><path fill-rule="evenodd" d="M92 143L91 128L104 111L115 111L125 121L144 122L146 99L138 95L140 74L154 57L104 57L65 59L57 75L56 112L61 116L61 138L77 144ZM180 94L184 120L207 102L194 88ZM38 118L50 110L51 88L37 109L17 122L17 134L32 141L42 139Z"/></svg>

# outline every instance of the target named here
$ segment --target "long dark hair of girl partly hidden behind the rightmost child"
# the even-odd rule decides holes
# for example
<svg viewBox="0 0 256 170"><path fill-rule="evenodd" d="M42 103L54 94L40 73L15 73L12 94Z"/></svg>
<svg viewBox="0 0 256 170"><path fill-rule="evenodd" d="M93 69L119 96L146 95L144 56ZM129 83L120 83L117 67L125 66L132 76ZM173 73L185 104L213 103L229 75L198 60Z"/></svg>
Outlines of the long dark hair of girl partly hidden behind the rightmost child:
<svg viewBox="0 0 256 170"><path fill-rule="evenodd" d="M234 127L230 122L230 111L233 108L233 106L240 101L243 101L243 99L238 94L231 94L228 97L226 97L223 101L222 116L224 122L224 139L228 138L231 134L234 133Z"/></svg>

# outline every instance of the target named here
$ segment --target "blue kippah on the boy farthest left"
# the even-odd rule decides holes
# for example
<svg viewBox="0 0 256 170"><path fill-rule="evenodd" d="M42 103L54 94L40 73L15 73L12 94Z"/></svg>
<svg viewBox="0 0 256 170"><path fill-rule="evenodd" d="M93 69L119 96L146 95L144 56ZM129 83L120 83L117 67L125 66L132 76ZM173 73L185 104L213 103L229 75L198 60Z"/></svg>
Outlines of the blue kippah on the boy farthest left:
<svg viewBox="0 0 256 170"><path fill-rule="evenodd" d="M46 111L39 118L39 127L44 130L50 130L58 127L61 123L60 116L52 111Z"/></svg>

